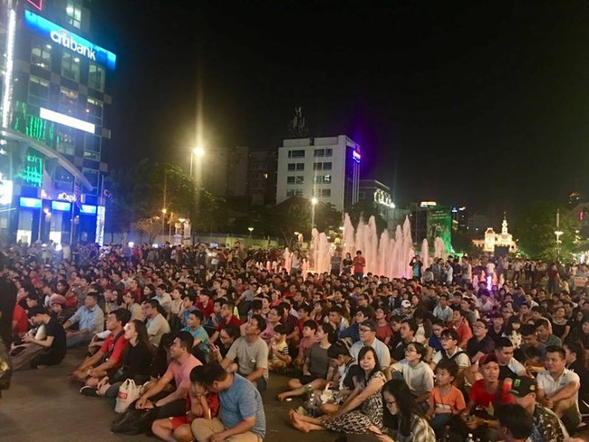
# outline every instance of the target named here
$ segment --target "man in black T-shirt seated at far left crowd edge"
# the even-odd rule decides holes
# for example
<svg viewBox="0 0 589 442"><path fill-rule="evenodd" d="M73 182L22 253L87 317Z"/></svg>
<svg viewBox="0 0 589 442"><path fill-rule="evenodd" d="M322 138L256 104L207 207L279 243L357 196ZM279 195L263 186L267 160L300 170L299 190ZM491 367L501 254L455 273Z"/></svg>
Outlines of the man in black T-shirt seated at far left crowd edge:
<svg viewBox="0 0 589 442"><path fill-rule="evenodd" d="M30 367L32 369L43 369L49 365L61 363L66 350L65 331L63 331L62 325L55 318L52 318L45 308L39 305L30 309L27 315L35 325L44 325L45 334L43 340L37 340L30 334L25 334L23 337L25 344L40 350L31 352Z"/></svg>

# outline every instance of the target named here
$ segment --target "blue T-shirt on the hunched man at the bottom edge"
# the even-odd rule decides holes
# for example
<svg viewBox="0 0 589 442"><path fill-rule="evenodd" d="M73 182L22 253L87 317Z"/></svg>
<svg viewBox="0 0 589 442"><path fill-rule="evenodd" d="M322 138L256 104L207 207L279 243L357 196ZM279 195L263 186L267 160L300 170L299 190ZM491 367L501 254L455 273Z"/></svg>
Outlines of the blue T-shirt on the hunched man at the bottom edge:
<svg viewBox="0 0 589 442"><path fill-rule="evenodd" d="M231 387L219 391L219 419L225 428L235 427L245 418L256 417L254 428L250 431L264 439L266 436L266 416L260 392L246 378L234 375Z"/></svg>

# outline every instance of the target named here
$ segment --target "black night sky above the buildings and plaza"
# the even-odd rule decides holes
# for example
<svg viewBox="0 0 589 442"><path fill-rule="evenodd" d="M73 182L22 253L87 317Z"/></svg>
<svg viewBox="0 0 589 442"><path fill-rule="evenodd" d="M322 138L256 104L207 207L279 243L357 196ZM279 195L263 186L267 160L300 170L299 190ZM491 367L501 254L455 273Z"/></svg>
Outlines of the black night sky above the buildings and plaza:
<svg viewBox="0 0 589 442"><path fill-rule="evenodd" d="M200 78L206 146L280 146L300 105L310 136L360 142L363 178L401 206L497 219L565 203L575 178L589 193L587 2L93 5L97 41L118 56L113 168L188 165Z"/></svg>

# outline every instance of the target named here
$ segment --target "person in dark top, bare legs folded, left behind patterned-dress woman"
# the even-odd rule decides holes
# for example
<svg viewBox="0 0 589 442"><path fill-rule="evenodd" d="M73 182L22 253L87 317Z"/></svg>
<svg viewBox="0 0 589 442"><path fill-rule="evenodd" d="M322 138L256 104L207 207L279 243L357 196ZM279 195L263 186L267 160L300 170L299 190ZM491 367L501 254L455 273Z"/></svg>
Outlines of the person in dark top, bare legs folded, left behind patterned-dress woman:
<svg viewBox="0 0 589 442"><path fill-rule="evenodd" d="M333 379L334 370L331 370L330 374L329 349L335 341L336 333L330 323L323 322L316 336L319 342L315 342L304 354L303 376L289 380L290 391L280 393L279 400L301 396L309 387L314 390L322 390L327 381ZM351 356L350 359L352 359Z"/></svg>

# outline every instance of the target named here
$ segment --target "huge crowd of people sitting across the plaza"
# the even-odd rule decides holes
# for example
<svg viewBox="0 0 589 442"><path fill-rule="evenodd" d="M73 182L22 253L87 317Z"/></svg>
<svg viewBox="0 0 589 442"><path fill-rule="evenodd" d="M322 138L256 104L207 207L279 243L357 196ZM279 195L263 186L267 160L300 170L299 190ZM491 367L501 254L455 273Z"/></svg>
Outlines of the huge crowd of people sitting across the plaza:
<svg viewBox="0 0 589 442"><path fill-rule="evenodd" d="M304 399L294 428L348 440L564 441L589 414L583 265L416 257L390 280L362 251L330 274L239 243L82 255L3 256L0 359L42 370L86 349L81 394L134 380L163 440L263 440L275 376L279 400Z"/></svg>

